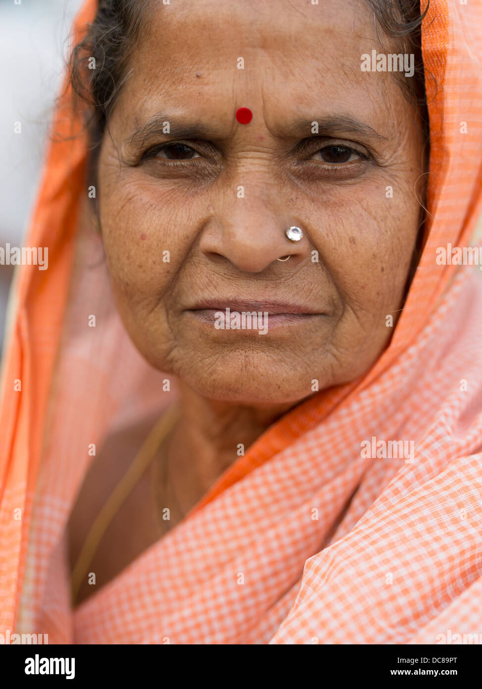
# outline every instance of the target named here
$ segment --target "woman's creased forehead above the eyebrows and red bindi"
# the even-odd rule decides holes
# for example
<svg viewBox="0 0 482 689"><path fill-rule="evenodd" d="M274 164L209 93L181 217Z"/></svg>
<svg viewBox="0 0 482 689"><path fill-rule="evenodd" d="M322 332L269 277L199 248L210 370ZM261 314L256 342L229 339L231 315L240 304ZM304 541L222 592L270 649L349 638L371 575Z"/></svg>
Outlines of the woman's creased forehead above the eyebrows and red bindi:
<svg viewBox="0 0 482 689"><path fill-rule="evenodd" d="M190 104L208 119L261 109L273 126L320 108L362 111L369 120L399 92L393 74L361 70L362 54L379 45L365 0L156 0L123 101L136 123Z"/></svg>

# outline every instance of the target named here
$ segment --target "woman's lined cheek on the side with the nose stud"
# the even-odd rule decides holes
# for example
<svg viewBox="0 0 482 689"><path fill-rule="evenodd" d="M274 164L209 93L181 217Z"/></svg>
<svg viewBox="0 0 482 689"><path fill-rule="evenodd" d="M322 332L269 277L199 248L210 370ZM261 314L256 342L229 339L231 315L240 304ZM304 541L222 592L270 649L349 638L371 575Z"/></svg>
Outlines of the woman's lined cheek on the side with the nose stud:
<svg viewBox="0 0 482 689"><path fill-rule="evenodd" d="M386 187L397 189L390 197ZM321 204L313 241L319 260L350 305L366 311L395 308L404 287L417 236L419 204L411 181L386 176L337 189ZM387 196L388 194L388 196Z"/></svg>

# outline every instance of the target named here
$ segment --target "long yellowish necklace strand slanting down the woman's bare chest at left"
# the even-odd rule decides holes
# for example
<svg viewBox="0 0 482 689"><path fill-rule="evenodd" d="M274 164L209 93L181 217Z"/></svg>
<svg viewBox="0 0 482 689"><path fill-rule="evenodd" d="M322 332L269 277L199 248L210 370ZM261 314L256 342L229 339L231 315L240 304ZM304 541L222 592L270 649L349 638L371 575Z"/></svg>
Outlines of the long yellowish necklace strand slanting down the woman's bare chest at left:
<svg viewBox="0 0 482 689"><path fill-rule="evenodd" d="M101 511L98 513L96 520L90 527L70 575L73 604L75 604L78 590L81 587L85 573L92 562L92 558L96 553L98 544L101 542L107 527L112 522L119 508L121 508L121 505L125 502L129 493L131 493L134 486L136 486L140 480L140 477L147 469L147 466L149 466L149 463L160 445L173 429L174 424L178 420L178 415L177 406L172 405L167 409L166 413L161 416L149 435L147 435L146 440L143 442L136 457L134 457L134 461L129 466L129 469L127 469L114 488L114 491L109 495Z"/></svg>

